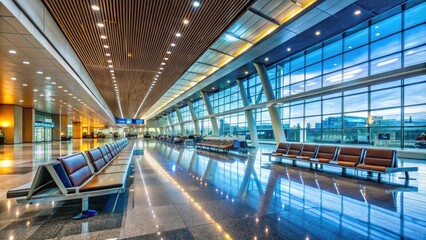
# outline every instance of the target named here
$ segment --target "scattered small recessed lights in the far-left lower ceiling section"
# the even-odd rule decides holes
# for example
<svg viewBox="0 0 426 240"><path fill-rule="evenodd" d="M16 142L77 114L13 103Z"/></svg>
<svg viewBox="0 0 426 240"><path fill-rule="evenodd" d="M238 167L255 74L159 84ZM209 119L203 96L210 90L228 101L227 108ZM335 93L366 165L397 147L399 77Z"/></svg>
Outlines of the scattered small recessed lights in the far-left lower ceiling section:
<svg viewBox="0 0 426 240"><path fill-rule="evenodd" d="M15 54L17 54L17 51L15 50L15 49L11 49L11 50L9 50L9 53L10 54L12 54L12 55L15 55ZM22 62L22 64L24 64L24 65L30 65L30 62L29 61L23 61ZM38 75L43 75L44 74L44 72L43 71L36 71L36 73L38 74ZM50 84L51 85L56 85L56 82L54 82L54 81L51 81L52 80L52 78L51 77L49 77L49 76L46 76L45 78L44 78L45 80L47 80L47 81L49 81L50 82ZM11 80L12 81L17 81L17 78L16 77L12 77L11 78ZM27 83L22 83L22 86L23 87L27 87L28 86L28 84ZM62 89L63 88L63 86L61 86L61 85L58 85L57 86L58 87L58 89ZM64 89L63 90L65 93L67 93L68 92L68 90L67 89ZM34 88L33 89L33 92L34 93L38 93L39 92L39 90L37 89L37 88ZM77 102L79 102L80 104L83 104L83 106L84 107L86 107L87 109L89 109L89 110L91 110L92 112L94 112L96 115L98 115L100 118L102 118L104 121L105 121L105 119L102 117L102 116L100 116L98 113L96 113L92 108L90 108L88 105L87 105L87 103L84 103L83 101L81 101L81 99L79 99L79 98L77 98L76 96L73 96L73 94L72 93L68 93L68 95L70 96L70 97L72 97L73 99L76 99L76 101ZM56 101L56 99L55 98L52 98L52 94L51 93L40 93L39 94L39 96L40 97L46 97L46 101L49 101L49 102L54 102L54 101ZM20 103L23 103L24 102L24 100L23 99L20 99L19 100L19 102ZM38 100L37 99L33 99L33 102L34 103L36 103L36 102L38 102ZM61 111L61 109L62 109L62 107L64 107L65 105L67 105L68 103L66 103L66 102L64 102L63 100L59 100L59 107L60 107L60 111ZM71 105L68 105L68 106L70 106L71 107ZM75 108L75 109L77 109L77 108ZM78 110L77 110L78 111ZM86 115L86 114L85 114ZM86 115L87 116L87 115Z"/></svg>

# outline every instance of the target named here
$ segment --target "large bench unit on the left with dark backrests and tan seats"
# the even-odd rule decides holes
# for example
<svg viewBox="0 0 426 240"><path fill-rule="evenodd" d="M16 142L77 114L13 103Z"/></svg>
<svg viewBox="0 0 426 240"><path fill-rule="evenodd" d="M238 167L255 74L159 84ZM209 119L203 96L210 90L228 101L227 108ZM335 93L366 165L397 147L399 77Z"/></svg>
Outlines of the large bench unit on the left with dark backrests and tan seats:
<svg viewBox="0 0 426 240"><path fill-rule="evenodd" d="M102 146L40 165L33 181L9 190L7 198L15 198L18 203L82 199L82 211L73 218L83 219L97 214L89 210L89 197L116 193L115 209L119 193L125 189L133 152L133 145L127 144L127 139L114 144L121 149L120 156L115 159L110 159L107 148ZM123 164L112 165L116 161Z"/></svg>

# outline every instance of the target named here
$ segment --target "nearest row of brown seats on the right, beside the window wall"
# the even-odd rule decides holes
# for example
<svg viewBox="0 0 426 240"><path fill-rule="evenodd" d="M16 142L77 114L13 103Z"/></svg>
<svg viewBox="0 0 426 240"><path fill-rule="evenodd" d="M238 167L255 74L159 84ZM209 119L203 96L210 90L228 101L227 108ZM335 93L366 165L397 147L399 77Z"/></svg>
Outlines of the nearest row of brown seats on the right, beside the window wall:
<svg viewBox="0 0 426 240"><path fill-rule="evenodd" d="M393 149L337 147L330 145L314 145L301 143L280 143L277 150L264 155L287 158L296 161L308 161L316 164L329 164L340 166L343 171L346 168L377 172L378 180L380 174L405 172L408 179L408 172L417 171L417 167L400 168L396 151Z"/></svg>

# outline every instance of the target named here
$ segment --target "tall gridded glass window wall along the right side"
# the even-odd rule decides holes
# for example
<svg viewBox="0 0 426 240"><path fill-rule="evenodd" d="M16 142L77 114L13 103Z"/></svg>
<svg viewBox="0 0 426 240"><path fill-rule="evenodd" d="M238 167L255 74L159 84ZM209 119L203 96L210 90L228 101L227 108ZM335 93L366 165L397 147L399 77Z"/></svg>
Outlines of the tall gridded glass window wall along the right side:
<svg viewBox="0 0 426 240"><path fill-rule="evenodd" d="M393 11L269 66L267 73L276 98L424 63L426 3ZM258 74L242 83L249 105L267 101ZM426 75L420 75L299 98L278 105L278 110L287 141L418 148L422 145L416 139L426 131L425 88ZM226 114L243 107L237 85L208 98L218 114L219 135L249 138L244 112ZM193 107L203 134L212 134L204 101L194 101ZM185 111L189 113L189 109ZM186 116L184 121L189 121L190 114ZM274 141L268 108L253 109L253 116L259 140Z"/></svg>

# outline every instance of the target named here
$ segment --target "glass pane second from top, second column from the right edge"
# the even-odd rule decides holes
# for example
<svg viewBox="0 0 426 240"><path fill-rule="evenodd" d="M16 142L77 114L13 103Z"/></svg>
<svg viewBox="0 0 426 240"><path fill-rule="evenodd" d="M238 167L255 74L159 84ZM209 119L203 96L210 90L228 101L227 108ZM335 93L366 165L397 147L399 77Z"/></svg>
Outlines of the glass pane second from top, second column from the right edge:
<svg viewBox="0 0 426 240"><path fill-rule="evenodd" d="M395 34L371 44L371 59L401 51L401 34Z"/></svg>

